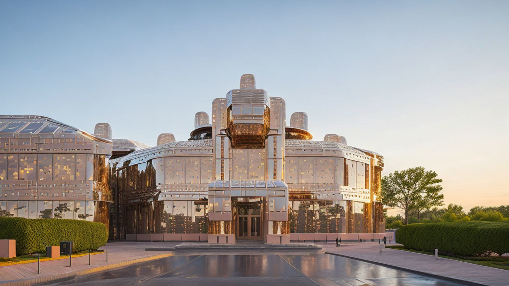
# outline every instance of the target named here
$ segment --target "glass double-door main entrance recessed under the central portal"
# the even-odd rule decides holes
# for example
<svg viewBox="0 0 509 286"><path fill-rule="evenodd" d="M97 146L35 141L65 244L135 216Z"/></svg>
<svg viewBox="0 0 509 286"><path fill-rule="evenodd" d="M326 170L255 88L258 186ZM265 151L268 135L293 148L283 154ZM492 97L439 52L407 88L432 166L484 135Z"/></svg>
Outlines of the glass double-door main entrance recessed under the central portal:
<svg viewBox="0 0 509 286"><path fill-rule="evenodd" d="M237 239L262 239L262 206L261 197L237 198Z"/></svg>

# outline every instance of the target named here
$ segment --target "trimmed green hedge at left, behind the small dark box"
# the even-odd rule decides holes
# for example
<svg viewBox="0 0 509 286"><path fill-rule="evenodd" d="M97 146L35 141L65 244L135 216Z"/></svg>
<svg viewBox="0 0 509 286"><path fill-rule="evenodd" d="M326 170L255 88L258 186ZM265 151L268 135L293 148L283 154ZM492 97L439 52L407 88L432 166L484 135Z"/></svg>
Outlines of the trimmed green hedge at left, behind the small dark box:
<svg viewBox="0 0 509 286"><path fill-rule="evenodd" d="M0 217L0 239L16 240L16 255L45 252L46 246L72 241L73 252L106 245L108 230L100 222L74 219Z"/></svg>

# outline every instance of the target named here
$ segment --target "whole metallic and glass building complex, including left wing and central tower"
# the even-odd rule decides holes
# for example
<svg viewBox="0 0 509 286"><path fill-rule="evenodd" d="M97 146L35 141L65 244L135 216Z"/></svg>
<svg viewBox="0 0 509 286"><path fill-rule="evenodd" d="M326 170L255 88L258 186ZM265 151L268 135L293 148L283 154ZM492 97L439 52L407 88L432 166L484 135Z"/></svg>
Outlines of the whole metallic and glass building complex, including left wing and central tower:
<svg viewBox="0 0 509 286"><path fill-rule="evenodd" d="M187 141L156 147L111 139L40 116L0 116L0 215L71 218L109 226L110 239L327 240L384 233L383 157L327 134L285 101L240 88L197 112Z"/></svg>

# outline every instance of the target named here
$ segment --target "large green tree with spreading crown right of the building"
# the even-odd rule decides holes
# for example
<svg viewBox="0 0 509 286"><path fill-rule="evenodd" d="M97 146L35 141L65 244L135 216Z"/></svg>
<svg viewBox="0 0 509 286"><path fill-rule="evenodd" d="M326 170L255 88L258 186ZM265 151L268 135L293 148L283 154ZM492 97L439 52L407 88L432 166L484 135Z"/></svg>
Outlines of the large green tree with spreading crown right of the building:
<svg viewBox="0 0 509 286"><path fill-rule="evenodd" d="M421 212L443 204L443 194L440 194L442 179L437 177L437 173L423 167L394 171L382 178L382 202L386 206L403 209L407 224L409 211Z"/></svg>

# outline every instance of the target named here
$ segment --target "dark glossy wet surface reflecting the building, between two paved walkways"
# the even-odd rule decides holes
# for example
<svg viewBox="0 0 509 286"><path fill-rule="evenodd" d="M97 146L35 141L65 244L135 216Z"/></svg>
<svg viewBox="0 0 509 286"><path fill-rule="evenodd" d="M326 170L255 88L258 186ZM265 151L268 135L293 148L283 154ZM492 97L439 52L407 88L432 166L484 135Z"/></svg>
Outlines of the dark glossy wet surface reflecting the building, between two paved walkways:
<svg viewBox="0 0 509 286"><path fill-rule="evenodd" d="M263 286L314 282L319 285L463 285L324 253L176 254L178 255L124 268L77 276L71 280L60 281L59 285L78 283L111 286L136 282L143 285L161 285L182 282L224 286L240 281ZM249 279L243 280L242 277Z"/></svg>

